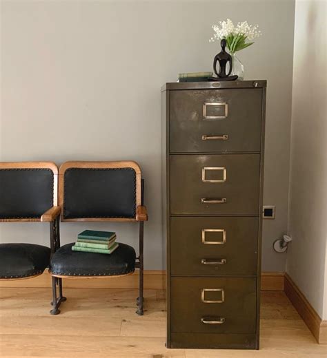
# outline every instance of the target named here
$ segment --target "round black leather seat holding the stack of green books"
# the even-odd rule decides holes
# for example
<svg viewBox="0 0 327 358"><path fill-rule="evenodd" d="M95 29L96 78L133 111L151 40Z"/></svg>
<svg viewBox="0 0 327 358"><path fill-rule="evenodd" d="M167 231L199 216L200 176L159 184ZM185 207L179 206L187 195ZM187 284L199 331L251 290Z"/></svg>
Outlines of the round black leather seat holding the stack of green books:
<svg viewBox="0 0 327 358"><path fill-rule="evenodd" d="M72 251L74 243L61 246L52 256L50 271L63 276L117 276L135 271L135 250L119 243L110 255Z"/></svg>

